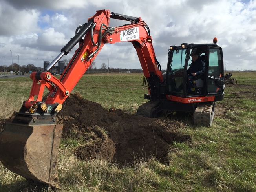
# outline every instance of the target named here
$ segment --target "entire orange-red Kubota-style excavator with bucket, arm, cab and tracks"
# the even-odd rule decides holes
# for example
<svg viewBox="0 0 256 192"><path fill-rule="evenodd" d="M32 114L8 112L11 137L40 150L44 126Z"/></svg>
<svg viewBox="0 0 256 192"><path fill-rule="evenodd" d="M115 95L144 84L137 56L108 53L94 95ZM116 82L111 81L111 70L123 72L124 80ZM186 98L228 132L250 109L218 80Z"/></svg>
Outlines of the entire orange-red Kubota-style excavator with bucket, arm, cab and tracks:
<svg viewBox="0 0 256 192"><path fill-rule="evenodd" d="M110 19L128 21L119 27L109 27ZM148 84L145 99L137 115L155 117L163 111L193 113L193 123L210 126L214 104L224 96L223 54L216 44L186 44L170 46L165 73L156 59L149 27L140 17L99 10L76 29L75 36L43 72L31 73L33 80L29 99L11 123L0 133L0 161L12 172L59 188L57 155L62 125L56 125L56 114L77 82L91 66L104 44L131 42L137 51L144 83ZM50 69L75 45L79 44L60 79ZM187 71L191 53L205 63L205 73L193 82L187 93ZM44 90L49 90L43 100Z"/></svg>

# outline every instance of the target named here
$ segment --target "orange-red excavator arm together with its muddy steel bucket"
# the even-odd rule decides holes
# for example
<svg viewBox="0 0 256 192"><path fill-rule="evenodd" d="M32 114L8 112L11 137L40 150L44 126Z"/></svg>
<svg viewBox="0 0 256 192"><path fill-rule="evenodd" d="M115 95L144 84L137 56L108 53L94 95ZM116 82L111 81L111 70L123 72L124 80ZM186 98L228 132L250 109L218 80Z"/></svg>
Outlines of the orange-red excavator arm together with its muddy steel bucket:
<svg viewBox="0 0 256 192"><path fill-rule="evenodd" d="M110 18L131 23L109 27ZM104 44L117 42L133 44L148 80L150 95L153 100L157 99L163 74L146 23L140 17L97 11L77 28L75 36L43 72L31 73L33 84L29 99L0 133L0 161L5 167L27 179L59 187L57 152L62 125L56 125L55 116ZM77 44L79 47L60 79L51 75L49 70ZM43 100L45 88L49 95Z"/></svg>

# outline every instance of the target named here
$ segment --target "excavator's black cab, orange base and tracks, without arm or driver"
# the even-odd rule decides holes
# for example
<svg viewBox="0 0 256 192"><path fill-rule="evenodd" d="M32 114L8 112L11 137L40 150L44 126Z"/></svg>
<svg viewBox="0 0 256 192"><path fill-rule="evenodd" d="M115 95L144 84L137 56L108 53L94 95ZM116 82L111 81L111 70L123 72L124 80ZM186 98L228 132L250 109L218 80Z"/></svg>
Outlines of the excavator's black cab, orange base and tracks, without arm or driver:
<svg viewBox="0 0 256 192"><path fill-rule="evenodd" d="M191 53L205 63L204 73L190 82L188 69ZM224 97L224 70L222 49L217 44L181 44L170 46L166 71L166 99L157 111L182 111L193 113L193 123L211 126L216 101ZM188 83L191 90L188 90Z"/></svg>

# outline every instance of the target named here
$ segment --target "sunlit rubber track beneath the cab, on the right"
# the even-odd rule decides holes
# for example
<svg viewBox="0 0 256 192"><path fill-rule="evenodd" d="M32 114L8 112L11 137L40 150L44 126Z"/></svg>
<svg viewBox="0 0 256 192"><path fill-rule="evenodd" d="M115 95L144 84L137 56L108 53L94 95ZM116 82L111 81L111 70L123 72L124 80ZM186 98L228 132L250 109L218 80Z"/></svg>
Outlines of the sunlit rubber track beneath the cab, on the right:
<svg viewBox="0 0 256 192"><path fill-rule="evenodd" d="M193 114L194 124L203 124L205 126L212 126L214 117L214 102L208 104L199 104Z"/></svg>

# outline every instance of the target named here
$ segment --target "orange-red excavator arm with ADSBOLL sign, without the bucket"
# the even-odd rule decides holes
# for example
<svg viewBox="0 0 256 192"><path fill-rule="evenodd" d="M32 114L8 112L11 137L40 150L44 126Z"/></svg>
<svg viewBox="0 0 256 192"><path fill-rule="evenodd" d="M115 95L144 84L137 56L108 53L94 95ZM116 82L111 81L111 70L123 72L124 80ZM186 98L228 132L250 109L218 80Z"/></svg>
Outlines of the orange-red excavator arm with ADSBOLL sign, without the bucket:
<svg viewBox="0 0 256 192"><path fill-rule="evenodd" d="M108 27L110 18L131 20L131 24L120 27ZM60 56L66 55L75 44L79 43L79 48L75 51L73 58L62 73L60 80L51 76L48 72L58 61L60 56L57 57L44 72L31 73L33 86L29 99L24 103L25 108L23 109L26 110L32 107L33 110L33 108L35 108L33 104L41 102L43 90L46 86L50 90L50 94L45 103L48 106L55 105L52 107L54 113L54 109L57 108L58 104L62 104L65 101L106 43L132 42L137 51L144 76L146 78L155 77L159 82L163 82L163 75L159 68L160 65L156 60L152 46L152 37L148 34L146 28L146 23L142 21L140 17L136 18L110 13L108 10L97 11L96 15L88 18L88 23L84 24L75 37L61 49ZM85 35L85 37L82 39L81 36L83 35ZM40 82L40 84L38 84L38 82ZM157 84L159 84L159 82ZM155 89L154 84L150 83L151 92ZM37 99L35 99L35 97L37 97ZM50 110L48 110L48 113L49 111Z"/></svg>

